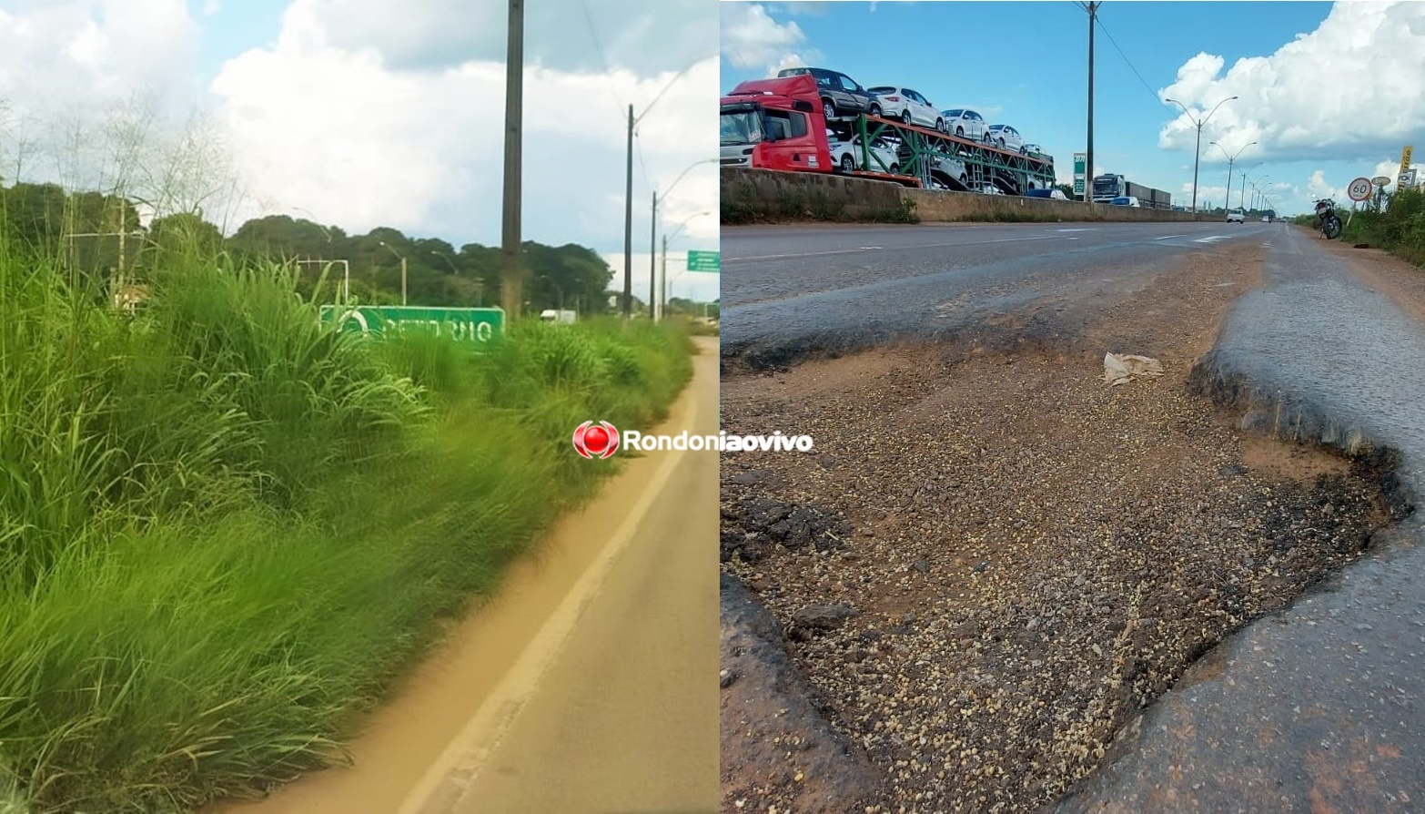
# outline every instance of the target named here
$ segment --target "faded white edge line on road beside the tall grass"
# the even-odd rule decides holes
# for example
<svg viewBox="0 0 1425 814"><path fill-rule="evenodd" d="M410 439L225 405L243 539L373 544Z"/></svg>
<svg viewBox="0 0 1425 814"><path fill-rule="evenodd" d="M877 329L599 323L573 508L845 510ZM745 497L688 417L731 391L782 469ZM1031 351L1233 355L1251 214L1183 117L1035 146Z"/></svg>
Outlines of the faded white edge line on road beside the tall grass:
<svg viewBox="0 0 1425 814"><path fill-rule="evenodd" d="M694 396L688 405L688 425L693 425L695 416L697 398ZM426 814L442 783L456 771L462 776L456 778L456 784L460 787L460 797L465 797L465 791L479 776L494 750L500 747L504 736L509 734L520 711L524 709L524 704L534 694L534 689L563 649L564 640L573 633L584 609L607 580L618 555L628 547L634 533L648 515L648 510L653 509L654 500L668 485L673 470L683 460L684 455L687 455L687 450L670 450L668 458L664 459L648 482L648 486L644 488L638 502L624 516L624 522L614 532L613 539L604 546L604 550L600 552L598 559L584 570L574 587L570 589L564 600L549 616L544 626L540 627L540 632L524 647L524 651L520 653L514 666L500 679L500 683L484 699L480 709L465 728L460 730L460 734L450 741L440 757L430 766L415 790L406 795L399 814Z"/></svg>

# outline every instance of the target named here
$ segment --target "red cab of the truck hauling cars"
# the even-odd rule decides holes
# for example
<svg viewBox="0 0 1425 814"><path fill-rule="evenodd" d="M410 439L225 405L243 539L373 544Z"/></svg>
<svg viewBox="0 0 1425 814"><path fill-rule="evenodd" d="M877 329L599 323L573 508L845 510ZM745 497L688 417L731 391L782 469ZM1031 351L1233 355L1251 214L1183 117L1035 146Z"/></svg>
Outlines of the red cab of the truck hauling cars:
<svg viewBox="0 0 1425 814"><path fill-rule="evenodd" d="M718 134L724 167L835 170L821 94L807 74L738 84L721 100Z"/></svg>

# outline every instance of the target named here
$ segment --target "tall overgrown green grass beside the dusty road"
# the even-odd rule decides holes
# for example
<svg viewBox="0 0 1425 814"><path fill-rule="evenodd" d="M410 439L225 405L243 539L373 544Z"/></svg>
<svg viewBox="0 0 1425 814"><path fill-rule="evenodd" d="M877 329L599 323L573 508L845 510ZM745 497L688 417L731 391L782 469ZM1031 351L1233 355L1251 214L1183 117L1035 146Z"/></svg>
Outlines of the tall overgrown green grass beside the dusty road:
<svg viewBox="0 0 1425 814"><path fill-rule="evenodd" d="M0 811L185 811L343 734L617 466L685 334L517 324L473 355L322 331L274 265L177 252L128 318L0 239Z"/></svg>

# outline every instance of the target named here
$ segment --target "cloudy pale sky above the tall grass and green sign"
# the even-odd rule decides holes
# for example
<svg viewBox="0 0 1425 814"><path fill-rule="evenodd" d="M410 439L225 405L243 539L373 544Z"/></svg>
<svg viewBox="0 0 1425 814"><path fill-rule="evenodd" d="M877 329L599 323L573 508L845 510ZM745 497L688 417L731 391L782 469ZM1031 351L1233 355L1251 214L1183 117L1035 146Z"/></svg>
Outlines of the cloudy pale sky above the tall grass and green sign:
<svg viewBox="0 0 1425 814"><path fill-rule="evenodd" d="M526 6L524 239L594 248L621 289L633 104L634 279L658 190L660 234L687 224L670 288L717 297L683 271L718 247L717 23L708 0ZM162 205L228 232L288 214L499 245L506 26L503 0L0 0L0 177L182 187Z"/></svg>

